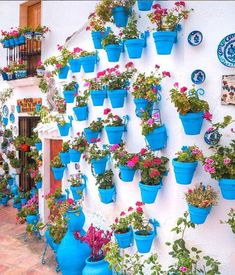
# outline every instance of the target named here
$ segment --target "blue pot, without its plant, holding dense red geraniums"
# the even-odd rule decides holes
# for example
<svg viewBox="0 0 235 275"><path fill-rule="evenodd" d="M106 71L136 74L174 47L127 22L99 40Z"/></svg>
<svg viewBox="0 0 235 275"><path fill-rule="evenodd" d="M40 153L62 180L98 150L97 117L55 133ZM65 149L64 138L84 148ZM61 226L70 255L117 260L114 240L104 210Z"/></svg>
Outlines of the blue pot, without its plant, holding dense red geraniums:
<svg viewBox="0 0 235 275"><path fill-rule="evenodd" d="M147 185L139 182L141 200L143 203L152 204L155 202L158 191L162 188L162 182L158 185Z"/></svg>

